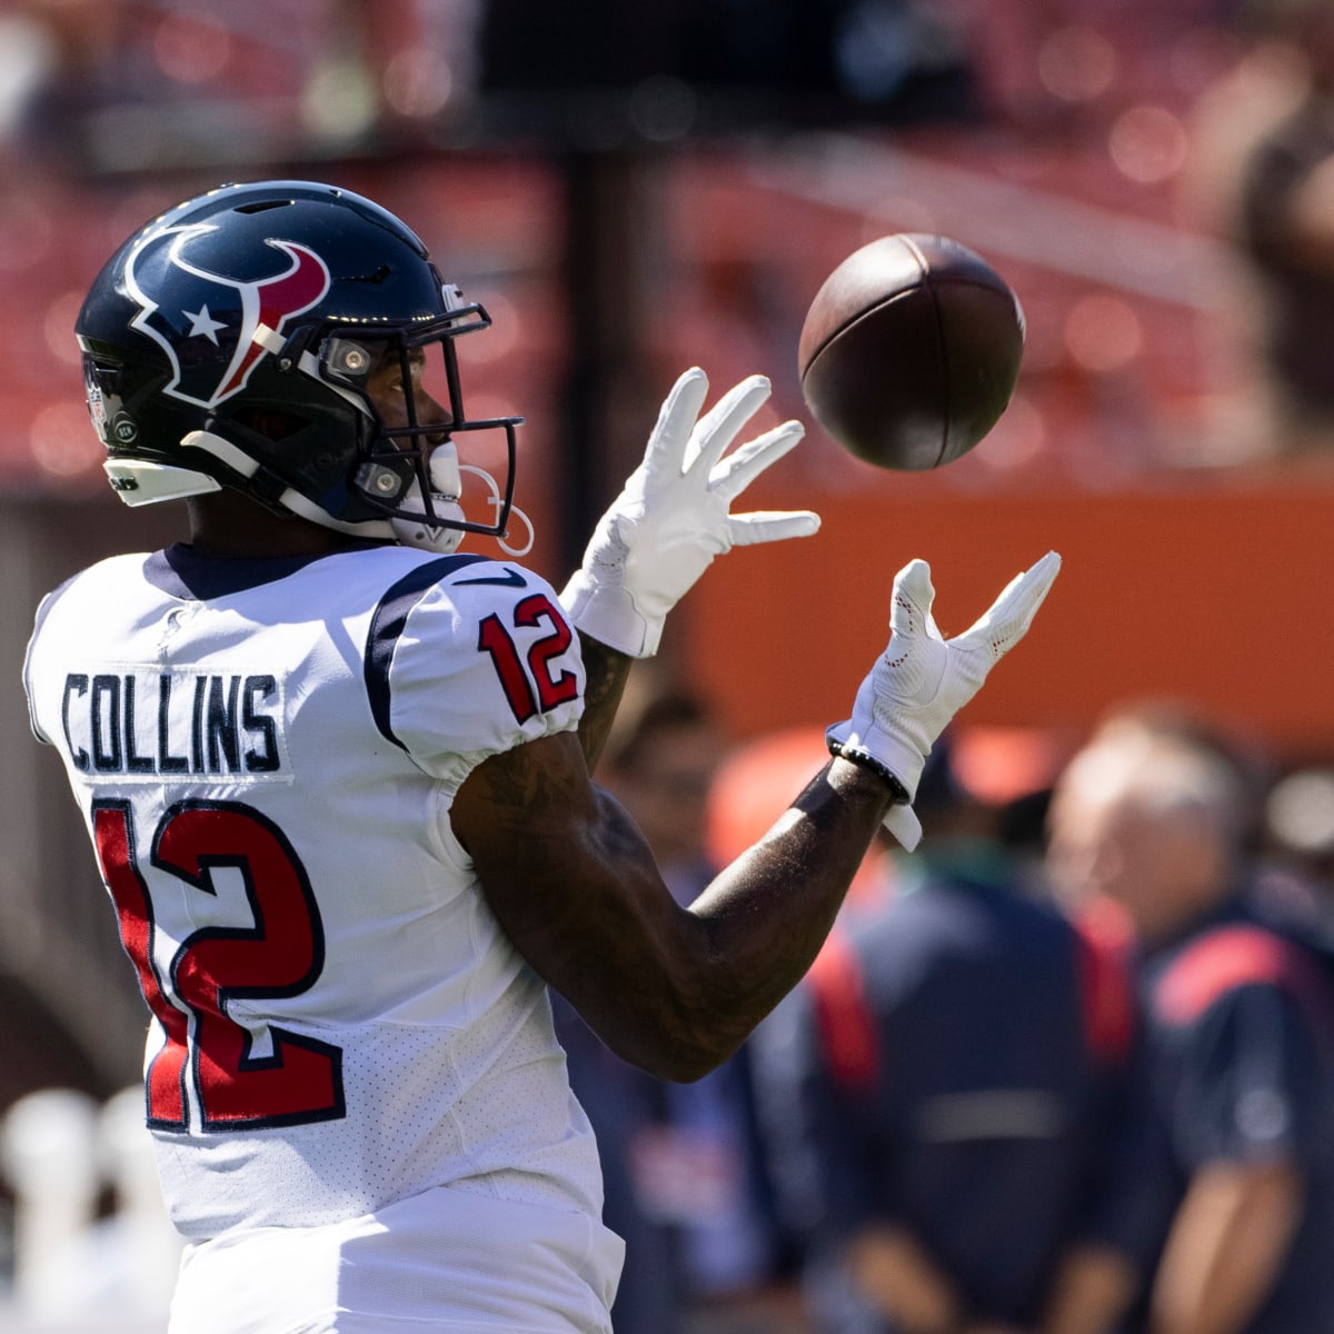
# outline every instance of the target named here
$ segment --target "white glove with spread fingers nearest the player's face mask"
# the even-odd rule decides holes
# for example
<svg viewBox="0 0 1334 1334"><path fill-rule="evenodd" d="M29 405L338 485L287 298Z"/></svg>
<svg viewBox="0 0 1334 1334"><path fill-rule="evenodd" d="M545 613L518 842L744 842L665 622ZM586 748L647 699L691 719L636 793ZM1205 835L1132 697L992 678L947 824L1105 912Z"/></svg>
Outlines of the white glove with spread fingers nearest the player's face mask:
<svg viewBox="0 0 1334 1334"><path fill-rule="evenodd" d="M631 658L658 651L667 612L714 556L734 546L806 538L820 526L808 510L730 512L732 500L806 428L784 422L724 459L723 451L768 398L770 383L750 376L696 422L707 392L699 367L672 387L644 462L598 520L583 567L560 594L579 630Z"/></svg>

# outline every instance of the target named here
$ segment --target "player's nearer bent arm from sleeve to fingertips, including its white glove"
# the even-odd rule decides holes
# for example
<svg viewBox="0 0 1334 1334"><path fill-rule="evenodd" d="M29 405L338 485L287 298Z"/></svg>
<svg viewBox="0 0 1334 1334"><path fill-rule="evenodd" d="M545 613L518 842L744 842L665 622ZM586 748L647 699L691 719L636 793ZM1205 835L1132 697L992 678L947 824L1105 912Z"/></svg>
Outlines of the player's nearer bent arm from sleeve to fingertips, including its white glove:
<svg viewBox="0 0 1334 1334"><path fill-rule="evenodd" d="M639 830L558 732L483 760L451 820L502 926L616 1053L676 1079L726 1059L819 950L880 823L907 807L926 754L1025 634L1059 568L1017 576L943 640L928 567L894 582L892 652L830 730L831 760L770 832L688 907Z"/></svg>

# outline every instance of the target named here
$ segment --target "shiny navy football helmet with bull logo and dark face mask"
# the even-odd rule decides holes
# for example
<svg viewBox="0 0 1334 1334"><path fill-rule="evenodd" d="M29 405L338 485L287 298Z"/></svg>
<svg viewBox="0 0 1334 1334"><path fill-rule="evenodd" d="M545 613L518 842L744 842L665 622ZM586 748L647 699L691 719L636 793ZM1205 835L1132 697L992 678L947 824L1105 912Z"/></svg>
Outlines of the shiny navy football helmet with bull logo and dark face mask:
<svg viewBox="0 0 1334 1334"><path fill-rule="evenodd" d="M456 544L464 531L503 535L512 503L522 418L468 419L454 347L490 323L379 204L269 180L223 185L143 227L75 328L127 504L231 487L340 531L402 539L424 520ZM444 391L432 392L444 426L414 402L419 348L443 356ZM383 422L366 392L386 356L402 363L406 426ZM490 523L458 503L455 436L479 430L503 432L508 456Z"/></svg>

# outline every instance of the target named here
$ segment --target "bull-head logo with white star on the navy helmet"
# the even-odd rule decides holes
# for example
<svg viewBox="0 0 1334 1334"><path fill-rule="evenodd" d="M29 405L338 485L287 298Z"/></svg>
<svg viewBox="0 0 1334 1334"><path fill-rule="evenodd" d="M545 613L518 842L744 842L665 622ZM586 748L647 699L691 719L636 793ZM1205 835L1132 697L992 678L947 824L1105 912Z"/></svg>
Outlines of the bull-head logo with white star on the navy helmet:
<svg viewBox="0 0 1334 1334"><path fill-rule="evenodd" d="M267 237L264 245L289 260L279 273L216 273L189 263L184 255L187 247L212 231L207 223L157 228L125 260L125 288L140 307L131 324L157 343L171 363L172 379L163 392L203 408L213 408L244 388L264 352L261 339L281 335L287 321L317 305L331 285L328 265L315 251L277 237ZM272 257L257 253L256 268L269 267L265 260ZM161 279L155 281L153 275L171 267L197 279L193 309L167 311L155 299L153 289ZM233 347L221 374L216 358L189 355L195 339L212 347Z"/></svg>

